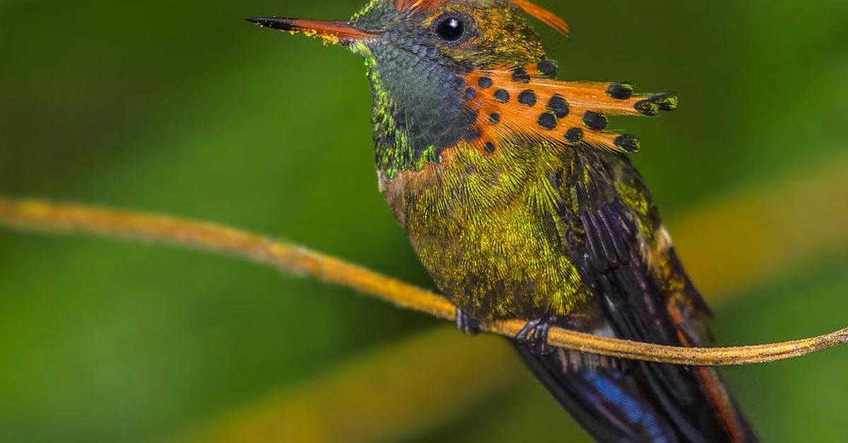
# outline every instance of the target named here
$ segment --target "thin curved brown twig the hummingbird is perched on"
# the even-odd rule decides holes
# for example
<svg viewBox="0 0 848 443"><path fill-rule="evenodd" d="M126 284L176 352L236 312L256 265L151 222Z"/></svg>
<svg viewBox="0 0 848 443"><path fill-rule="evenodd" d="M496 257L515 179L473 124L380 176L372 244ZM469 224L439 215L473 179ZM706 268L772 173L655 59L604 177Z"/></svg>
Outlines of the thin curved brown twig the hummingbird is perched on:
<svg viewBox="0 0 848 443"><path fill-rule="evenodd" d="M0 197L0 224L21 230L121 236L222 252L234 257L248 258L257 263L270 264L286 272L306 274L347 286L399 307L430 313L439 318L452 320L455 316L455 305L433 292L301 246L273 241L262 235L216 224L6 197ZM500 335L515 336L523 326L522 320L515 319L485 324L483 329ZM698 366L728 366L800 357L841 345L848 342L848 328L812 338L767 345L701 348L662 346L551 328L548 342L553 346L613 357Z"/></svg>

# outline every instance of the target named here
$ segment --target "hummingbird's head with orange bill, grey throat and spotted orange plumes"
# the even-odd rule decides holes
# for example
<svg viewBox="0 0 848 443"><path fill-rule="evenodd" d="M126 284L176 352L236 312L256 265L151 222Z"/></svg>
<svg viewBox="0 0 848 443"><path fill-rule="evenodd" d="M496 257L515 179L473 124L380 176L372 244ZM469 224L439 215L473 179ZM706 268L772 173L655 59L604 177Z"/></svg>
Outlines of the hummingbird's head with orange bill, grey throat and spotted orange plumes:
<svg viewBox="0 0 848 443"><path fill-rule="evenodd" d="M377 166L390 176L438 162L460 144L496 155L504 140L541 137L633 152L639 141L605 131L606 115L677 106L668 94L634 96L627 82L555 80L556 64L525 14L568 32L529 0L371 0L347 21L248 21L365 57Z"/></svg>

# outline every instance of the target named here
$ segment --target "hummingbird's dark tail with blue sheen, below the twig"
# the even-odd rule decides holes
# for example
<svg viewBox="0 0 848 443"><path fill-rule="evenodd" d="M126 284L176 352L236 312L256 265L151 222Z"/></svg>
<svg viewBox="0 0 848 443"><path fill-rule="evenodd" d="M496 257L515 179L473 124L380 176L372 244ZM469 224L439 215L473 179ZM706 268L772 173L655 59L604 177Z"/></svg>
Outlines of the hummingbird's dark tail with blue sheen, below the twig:
<svg viewBox="0 0 848 443"><path fill-rule="evenodd" d="M566 349L539 356L525 345L516 343L516 348L556 401L595 440L757 441L712 368L677 367L679 371L674 372L679 377L676 380L671 384L656 384L651 379L660 373L667 375L670 365L626 361ZM699 371L702 374L698 374ZM704 385L705 376L717 385ZM669 385L680 384L685 384L681 386L685 389L658 392L668 390ZM717 400L723 401L723 405L717 406Z"/></svg>

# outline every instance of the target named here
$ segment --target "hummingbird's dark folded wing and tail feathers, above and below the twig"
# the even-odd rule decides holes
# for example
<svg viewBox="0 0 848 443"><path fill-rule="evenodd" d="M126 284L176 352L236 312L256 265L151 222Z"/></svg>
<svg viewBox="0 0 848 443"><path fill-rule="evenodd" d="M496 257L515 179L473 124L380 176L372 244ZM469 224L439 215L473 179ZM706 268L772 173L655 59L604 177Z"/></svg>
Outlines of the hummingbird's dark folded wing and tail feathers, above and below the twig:
<svg viewBox="0 0 848 443"><path fill-rule="evenodd" d="M672 346L701 344L702 318L709 312L671 246L659 244L659 215L638 172L626 158L590 147L577 148L563 162L564 172L549 177L562 197L558 223L570 224L560 230L566 233L560 240L600 312L577 329ZM616 185L641 197L642 208L633 208L633 197L628 201ZM651 266L651 254L667 272ZM621 361L597 368L575 363L561 350L545 357L522 354L599 440L756 441L711 368Z"/></svg>

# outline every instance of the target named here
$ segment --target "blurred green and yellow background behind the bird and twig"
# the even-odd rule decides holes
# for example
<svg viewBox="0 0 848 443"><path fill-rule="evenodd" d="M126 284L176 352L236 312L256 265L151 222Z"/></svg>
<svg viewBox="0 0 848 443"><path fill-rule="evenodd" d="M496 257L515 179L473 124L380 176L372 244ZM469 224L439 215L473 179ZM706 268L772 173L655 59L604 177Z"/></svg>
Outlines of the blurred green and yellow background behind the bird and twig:
<svg viewBox="0 0 848 443"><path fill-rule="evenodd" d="M722 344L848 321L848 3L545 1ZM244 17L359 0L0 1L0 192L259 231L431 287L377 192L359 58ZM540 25L541 26L541 25ZM763 440L848 440L848 349L723 370ZM588 437L503 341L228 257L0 230L0 441Z"/></svg>

